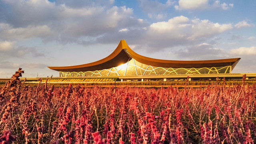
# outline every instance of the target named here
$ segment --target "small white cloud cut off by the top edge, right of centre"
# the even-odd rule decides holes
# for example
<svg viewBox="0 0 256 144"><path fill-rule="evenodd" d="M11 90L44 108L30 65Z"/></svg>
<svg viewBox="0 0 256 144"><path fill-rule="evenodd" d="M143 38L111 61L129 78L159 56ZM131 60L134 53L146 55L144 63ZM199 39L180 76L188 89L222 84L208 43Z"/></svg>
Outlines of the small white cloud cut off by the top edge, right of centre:
<svg viewBox="0 0 256 144"><path fill-rule="evenodd" d="M179 6L175 6L176 9L205 9L208 6L208 0L179 0Z"/></svg>

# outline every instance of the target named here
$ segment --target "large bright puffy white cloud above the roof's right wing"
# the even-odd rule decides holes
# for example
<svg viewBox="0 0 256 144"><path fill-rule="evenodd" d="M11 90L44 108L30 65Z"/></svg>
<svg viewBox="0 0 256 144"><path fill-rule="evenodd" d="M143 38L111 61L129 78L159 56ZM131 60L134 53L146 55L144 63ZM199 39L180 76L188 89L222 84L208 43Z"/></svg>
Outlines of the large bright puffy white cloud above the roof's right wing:
<svg viewBox="0 0 256 144"><path fill-rule="evenodd" d="M168 21L151 24L146 30L146 38L149 41L160 41L163 47L172 47L202 42L206 38L212 38L230 29L232 24L219 24L200 19L190 20L185 16L178 16Z"/></svg>

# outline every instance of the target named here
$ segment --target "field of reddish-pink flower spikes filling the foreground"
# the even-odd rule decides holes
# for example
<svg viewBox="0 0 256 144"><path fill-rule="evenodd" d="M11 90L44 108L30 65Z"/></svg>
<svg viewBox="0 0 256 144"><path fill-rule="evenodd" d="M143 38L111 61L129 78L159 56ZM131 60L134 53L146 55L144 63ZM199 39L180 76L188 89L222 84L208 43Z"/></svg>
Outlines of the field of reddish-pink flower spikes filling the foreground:
<svg viewBox="0 0 256 144"><path fill-rule="evenodd" d="M256 85L0 87L0 144L254 144Z"/></svg>

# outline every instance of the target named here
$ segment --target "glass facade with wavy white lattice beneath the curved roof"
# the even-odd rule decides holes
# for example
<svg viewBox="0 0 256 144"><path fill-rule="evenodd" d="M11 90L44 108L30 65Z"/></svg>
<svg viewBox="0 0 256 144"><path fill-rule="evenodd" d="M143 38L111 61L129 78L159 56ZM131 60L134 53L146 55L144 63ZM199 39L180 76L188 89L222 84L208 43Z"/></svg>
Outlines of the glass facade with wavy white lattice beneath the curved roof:
<svg viewBox="0 0 256 144"><path fill-rule="evenodd" d="M226 74L231 73L231 66L211 68L162 68L142 64L133 58L114 68L87 72L60 72L60 77L76 76L142 76L173 74Z"/></svg>

